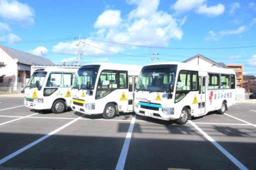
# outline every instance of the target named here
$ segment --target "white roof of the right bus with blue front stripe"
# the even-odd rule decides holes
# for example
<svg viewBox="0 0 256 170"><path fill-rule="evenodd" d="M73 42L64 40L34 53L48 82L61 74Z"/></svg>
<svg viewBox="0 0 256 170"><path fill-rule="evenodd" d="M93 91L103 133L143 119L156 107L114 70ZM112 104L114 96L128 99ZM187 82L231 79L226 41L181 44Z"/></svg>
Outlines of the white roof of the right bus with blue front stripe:
<svg viewBox="0 0 256 170"><path fill-rule="evenodd" d="M184 62L156 62L147 65L166 65L166 64L177 64L178 69L188 69L188 70L195 70L195 71L206 71L206 72L223 72L223 73L233 73L235 74L234 70L231 68L219 68L219 67L212 67L212 66L204 66L204 65L195 65L189 64ZM147 66L145 65L145 66Z"/></svg>

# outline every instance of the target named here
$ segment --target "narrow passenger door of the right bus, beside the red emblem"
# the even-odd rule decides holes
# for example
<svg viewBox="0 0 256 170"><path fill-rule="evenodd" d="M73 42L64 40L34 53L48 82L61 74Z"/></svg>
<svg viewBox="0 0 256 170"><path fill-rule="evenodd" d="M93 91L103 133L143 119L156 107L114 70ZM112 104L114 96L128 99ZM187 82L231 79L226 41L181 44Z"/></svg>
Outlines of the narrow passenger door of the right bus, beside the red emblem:
<svg viewBox="0 0 256 170"><path fill-rule="evenodd" d="M200 76L199 77L199 85L200 85L200 91L199 96L201 98L201 103L198 103L198 106L201 108L201 114L205 113L205 99L206 99L206 76Z"/></svg>

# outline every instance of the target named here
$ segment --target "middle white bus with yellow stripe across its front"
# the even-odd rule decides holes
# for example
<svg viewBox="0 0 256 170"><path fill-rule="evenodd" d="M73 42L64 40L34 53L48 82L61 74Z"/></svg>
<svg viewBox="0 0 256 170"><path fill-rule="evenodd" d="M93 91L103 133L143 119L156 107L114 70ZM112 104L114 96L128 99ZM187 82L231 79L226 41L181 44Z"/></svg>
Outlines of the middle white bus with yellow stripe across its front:
<svg viewBox="0 0 256 170"><path fill-rule="evenodd" d="M81 66L71 90L71 108L106 119L134 111L134 91L142 66L91 63Z"/></svg>

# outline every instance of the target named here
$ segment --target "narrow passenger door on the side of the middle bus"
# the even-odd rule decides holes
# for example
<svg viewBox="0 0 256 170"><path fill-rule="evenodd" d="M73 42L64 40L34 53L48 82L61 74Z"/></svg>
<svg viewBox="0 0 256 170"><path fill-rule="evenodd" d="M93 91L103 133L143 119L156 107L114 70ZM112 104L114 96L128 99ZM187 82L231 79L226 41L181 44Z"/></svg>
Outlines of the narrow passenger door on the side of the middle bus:
<svg viewBox="0 0 256 170"><path fill-rule="evenodd" d="M138 76L129 76L129 87L128 87L128 111L134 110L134 93Z"/></svg>

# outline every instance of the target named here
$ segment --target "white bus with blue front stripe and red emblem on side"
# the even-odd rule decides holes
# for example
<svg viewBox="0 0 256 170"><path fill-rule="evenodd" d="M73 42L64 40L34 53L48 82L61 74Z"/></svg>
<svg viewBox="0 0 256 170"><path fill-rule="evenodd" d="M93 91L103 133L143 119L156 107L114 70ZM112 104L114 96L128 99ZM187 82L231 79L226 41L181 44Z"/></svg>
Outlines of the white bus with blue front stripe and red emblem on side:
<svg viewBox="0 0 256 170"><path fill-rule="evenodd" d="M180 62L142 68L135 93L135 112L185 124L209 111L223 114L235 103L235 72L228 68Z"/></svg>

